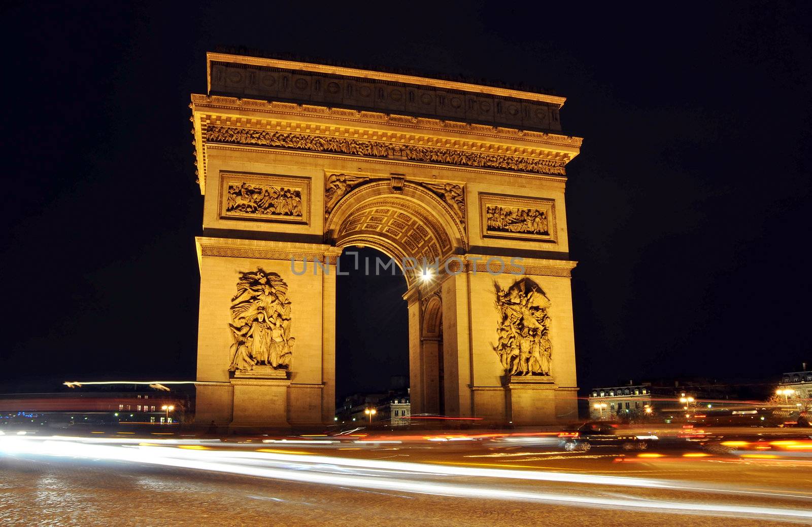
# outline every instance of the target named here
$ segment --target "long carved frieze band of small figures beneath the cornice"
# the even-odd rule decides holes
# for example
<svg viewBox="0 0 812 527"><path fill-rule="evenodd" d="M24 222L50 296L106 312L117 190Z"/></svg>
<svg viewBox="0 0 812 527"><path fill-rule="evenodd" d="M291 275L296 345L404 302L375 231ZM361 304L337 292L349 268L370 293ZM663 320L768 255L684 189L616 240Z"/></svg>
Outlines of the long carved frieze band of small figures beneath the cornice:
<svg viewBox="0 0 812 527"><path fill-rule="evenodd" d="M566 175L564 161L505 156L486 152L466 152L452 148L413 144L392 144L367 139L350 139L286 131L252 130L235 126L210 125L205 138L213 143L248 144L271 148L291 148L308 152L330 152L354 156L382 157L406 161L471 166L483 169L515 170L534 174Z"/></svg>

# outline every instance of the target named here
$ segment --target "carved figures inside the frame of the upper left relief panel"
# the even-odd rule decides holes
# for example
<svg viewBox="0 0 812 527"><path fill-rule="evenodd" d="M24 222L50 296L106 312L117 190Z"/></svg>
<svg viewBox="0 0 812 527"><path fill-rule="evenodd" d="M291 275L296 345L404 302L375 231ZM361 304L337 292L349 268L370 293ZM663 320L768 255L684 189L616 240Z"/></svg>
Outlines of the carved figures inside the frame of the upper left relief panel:
<svg viewBox="0 0 812 527"><path fill-rule="evenodd" d="M273 185L229 183L226 212L301 217L301 191Z"/></svg>

